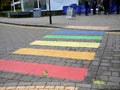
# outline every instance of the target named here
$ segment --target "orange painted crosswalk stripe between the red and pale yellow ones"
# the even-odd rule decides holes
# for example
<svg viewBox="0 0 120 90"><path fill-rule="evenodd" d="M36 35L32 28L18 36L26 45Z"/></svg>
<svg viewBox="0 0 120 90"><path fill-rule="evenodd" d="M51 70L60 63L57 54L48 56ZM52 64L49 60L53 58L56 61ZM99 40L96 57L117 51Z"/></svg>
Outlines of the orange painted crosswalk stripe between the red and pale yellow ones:
<svg viewBox="0 0 120 90"><path fill-rule="evenodd" d="M33 49L33 48L21 48L13 52L13 54L51 56L84 60L93 60L95 56L94 52L74 52L65 50Z"/></svg>

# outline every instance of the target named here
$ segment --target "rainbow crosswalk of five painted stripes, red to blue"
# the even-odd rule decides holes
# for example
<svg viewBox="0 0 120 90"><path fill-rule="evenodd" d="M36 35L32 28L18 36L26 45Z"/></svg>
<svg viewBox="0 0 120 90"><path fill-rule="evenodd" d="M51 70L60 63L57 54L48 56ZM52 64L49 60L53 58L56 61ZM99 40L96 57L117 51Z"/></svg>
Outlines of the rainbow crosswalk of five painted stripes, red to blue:
<svg viewBox="0 0 120 90"><path fill-rule="evenodd" d="M81 30L55 30L51 34L42 38L45 40L35 40L30 46L47 46L47 47L75 47L75 48L99 48L100 41L103 39L103 31L81 31ZM54 39L54 40L53 40ZM62 40L61 40L62 39ZM63 41L64 40L64 41ZM72 41L70 41L72 40ZM76 41L73 41L76 40ZM81 42L80 40L87 40ZM97 41L97 42L94 42ZM56 50L45 48L20 48L13 52L17 55L34 55L57 58L68 58L72 60L94 60L95 52L80 52L70 50ZM23 69L24 68L24 69ZM0 60L0 70L10 72L20 72L41 76L43 71L48 71L49 77L64 78L70 80L84 80L88 68L76 68L68 66L40 64L32 62L21 62L15 60ZM62 73L61 73L62 72ZM79 73L78 73L79 72Z"/></svg>

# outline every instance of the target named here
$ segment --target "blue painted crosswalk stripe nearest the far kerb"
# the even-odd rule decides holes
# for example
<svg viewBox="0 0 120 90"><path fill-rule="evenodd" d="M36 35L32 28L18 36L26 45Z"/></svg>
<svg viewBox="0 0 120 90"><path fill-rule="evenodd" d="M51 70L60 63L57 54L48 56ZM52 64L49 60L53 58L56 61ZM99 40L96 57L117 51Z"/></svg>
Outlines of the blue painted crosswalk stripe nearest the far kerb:
<svg viewBox="0 0 120 90"><path fill-rule="evenodd" d="M71 35L79 35L79 34L90 34L90 35L104 35L104 31L83 31L83 30L55 30L52 34L71 34Z"/></svg>

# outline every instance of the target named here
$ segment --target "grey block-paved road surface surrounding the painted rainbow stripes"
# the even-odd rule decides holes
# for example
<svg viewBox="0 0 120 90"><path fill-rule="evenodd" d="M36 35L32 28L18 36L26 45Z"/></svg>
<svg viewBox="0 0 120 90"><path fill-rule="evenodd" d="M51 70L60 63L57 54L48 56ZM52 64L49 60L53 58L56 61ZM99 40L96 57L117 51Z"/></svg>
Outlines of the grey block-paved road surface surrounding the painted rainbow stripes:
<svg viewBox="0 0 120 90"><path fill-rule="evenodd" d="M0 25L0 59L16 60L22 62L43 63L77 68L88 68L84 80L69 80L38 76L20 72L0 71L0 90L97 90L97 89L120 89L120 34L107 33L102 40L73 40L71 42L95 42L100 43L98 48L86 47L58 47L58 46L34 46L30 45L35 40L56 41L56 39L43 38L50 35L55 28L27 28L17 26ZM69 30L68 30L69 31ZM74 31L74 30L73 30ZM79 30L81 31L81 30ZM90 30L92 31L92 30ZM82 34L83 35L83 34ZM87 34L86 34L87 35ZM84 36L86 36L84 35ZM96 36L96 35L90 35ZM57 40L59 41L59 40ZM66 41L60 39L60 41ZM88 44L89 45L89 44ZM95 52L93 60L77 60L71 58L58 58L49 56L13 54L20 48L42 48L67 50L77 52ZM69 72L68 72L69 73ZM76 73L77 74L77 73ZM94 80L103 80L104 85L93 84ZM28 89L29 88L29 89ZM41 89L42 88L42 89Z"/></svg>

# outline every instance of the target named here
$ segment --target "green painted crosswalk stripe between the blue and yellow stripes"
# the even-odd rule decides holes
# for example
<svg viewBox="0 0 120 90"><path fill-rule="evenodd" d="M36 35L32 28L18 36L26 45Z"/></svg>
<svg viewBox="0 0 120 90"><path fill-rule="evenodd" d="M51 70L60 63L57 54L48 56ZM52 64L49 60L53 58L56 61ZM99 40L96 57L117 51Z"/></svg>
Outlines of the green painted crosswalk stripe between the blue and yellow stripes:
<svg viewBox="0 0 120 90"><path fill-rule="evenodd" d="M43 38L53 39L84 39L84 40L102 40L102 36L68 36L68 35L46 35Z"/></svg>

